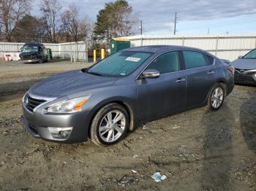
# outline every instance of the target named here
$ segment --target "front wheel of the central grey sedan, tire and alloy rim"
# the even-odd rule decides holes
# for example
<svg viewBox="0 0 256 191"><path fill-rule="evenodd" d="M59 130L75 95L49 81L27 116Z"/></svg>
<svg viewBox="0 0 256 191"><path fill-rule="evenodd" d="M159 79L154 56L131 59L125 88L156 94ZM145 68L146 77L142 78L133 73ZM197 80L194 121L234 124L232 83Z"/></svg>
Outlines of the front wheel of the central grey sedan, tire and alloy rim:
<svg viewBox="0 0 256 191"><path fill-rule="evenodd" d="M91 122L91 141L98 146L111 146L124 138L128 128L127 110L115 103L105 105L99 109Z"/></svg>

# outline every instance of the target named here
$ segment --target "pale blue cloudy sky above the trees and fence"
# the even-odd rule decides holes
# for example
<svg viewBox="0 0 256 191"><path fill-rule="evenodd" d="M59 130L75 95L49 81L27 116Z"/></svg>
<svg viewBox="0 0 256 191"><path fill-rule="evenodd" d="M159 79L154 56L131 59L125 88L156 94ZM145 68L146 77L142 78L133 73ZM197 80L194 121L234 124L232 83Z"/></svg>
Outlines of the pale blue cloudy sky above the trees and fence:
<svg viewBox="0 0 256 191"><path fill-rule="evenodd" d="M96 21L103 0L59 0L63 9L73 3L80 15ZM177 12L176 34L252 34L256 32L256 0L127 0L143 22L143 34L173 34ZM39 0L32 13L38 15ZM138 33L140 29L138 26Z"/></svg>

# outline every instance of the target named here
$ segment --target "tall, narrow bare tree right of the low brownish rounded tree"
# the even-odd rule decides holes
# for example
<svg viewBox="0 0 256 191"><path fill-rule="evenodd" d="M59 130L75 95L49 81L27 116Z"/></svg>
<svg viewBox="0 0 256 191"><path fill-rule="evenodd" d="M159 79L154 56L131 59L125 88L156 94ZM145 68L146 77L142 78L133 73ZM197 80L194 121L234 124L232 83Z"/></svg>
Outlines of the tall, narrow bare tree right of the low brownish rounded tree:
<svg viewBox="0 0 256 191"><path fill-rule="evenodd" d="M58 0L42 0L40 10L47 22L47 32L50 42L56 43L59 12L61 11L61 4Z"/></svg>

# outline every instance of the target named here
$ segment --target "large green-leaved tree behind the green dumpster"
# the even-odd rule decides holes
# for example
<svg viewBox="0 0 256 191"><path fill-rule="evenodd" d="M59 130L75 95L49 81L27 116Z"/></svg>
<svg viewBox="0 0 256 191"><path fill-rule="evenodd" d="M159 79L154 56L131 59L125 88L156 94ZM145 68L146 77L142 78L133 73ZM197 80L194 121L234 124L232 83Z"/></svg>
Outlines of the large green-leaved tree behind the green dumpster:
<svg viewBox="0 0 256 191"><path fill-rule="evenodd" d="M106 3L105 8L101 9L97 15L94 39L109 41L113 37L132 35L137 22L132 7L127 1L117 0Z"/></svg>

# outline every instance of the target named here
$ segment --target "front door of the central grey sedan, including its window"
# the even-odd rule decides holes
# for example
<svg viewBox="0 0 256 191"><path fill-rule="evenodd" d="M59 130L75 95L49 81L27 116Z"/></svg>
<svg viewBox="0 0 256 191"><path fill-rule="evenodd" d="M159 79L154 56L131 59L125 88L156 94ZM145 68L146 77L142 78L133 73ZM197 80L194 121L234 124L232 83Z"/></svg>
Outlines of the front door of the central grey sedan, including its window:
<svg viewBox="0 0 256 191"><path fill-rule="evenodd" d="M159 55L146 69L155 69L160 76L138 79L138 106L141 120L151 120L184 109L186 76L181 76L181 54L178 51Z"/></svg>

